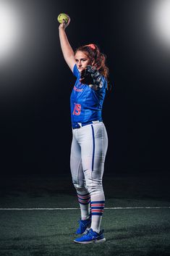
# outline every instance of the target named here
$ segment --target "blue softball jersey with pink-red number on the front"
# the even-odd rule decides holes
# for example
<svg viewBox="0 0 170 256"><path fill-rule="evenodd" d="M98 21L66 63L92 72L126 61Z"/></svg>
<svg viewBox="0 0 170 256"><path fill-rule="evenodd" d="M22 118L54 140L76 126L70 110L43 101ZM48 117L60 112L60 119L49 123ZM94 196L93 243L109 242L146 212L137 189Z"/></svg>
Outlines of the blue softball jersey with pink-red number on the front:
<svg viewBox="0 0 170 256"><path fill-rule="evenodd" d="M101 112L106 94L106 79L102 76L103 86L94 89L84 83L80 83L80 72L77 69L77 65L75 65L73 73L77 80L70 97L72 128L80 127L78 123L102 121Z"/></svg>

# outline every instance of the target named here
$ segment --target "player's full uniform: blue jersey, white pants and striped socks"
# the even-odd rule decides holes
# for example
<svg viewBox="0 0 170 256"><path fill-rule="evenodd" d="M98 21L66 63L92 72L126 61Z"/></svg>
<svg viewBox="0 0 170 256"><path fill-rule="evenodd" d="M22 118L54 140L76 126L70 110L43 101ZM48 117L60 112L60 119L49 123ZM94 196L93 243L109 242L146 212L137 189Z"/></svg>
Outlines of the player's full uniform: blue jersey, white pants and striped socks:
<svg viewBox="0 0 170 256"><path fill-rule="evenodd" d="M87 219L89 215L92 215L92 228L98 230L100 223L96 221L101 222L101 218L97 217L103 214L105 203L102 177L108 136L102 120L102 107L107 82L102 77L103 86L98 88L80 83L77 65L73 73L77 80L70 97L72 181L77 190L82 214L84 214L82 219Z"/></svg>

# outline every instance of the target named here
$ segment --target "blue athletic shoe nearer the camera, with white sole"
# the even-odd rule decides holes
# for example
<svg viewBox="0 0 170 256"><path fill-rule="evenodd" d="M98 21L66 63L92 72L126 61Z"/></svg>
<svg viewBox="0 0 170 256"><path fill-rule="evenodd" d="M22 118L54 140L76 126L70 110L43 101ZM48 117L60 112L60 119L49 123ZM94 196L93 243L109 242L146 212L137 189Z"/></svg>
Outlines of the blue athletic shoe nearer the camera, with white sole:
<svg viewBox="0 0 170 256"><path fill-rule="evenodd" d="M75 243L79 244L90 244L90 243L102 243L103 241L106 241L103 235L103 231L101 231L99 234L93 231L92 228L84 235L74 240Z"/></svg>

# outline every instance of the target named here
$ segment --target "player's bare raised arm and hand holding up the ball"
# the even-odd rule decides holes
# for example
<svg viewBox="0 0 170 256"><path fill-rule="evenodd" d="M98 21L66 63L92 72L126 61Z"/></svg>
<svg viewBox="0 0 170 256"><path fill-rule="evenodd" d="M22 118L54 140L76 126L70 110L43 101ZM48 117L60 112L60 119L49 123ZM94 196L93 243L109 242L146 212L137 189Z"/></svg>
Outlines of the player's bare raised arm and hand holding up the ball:
<svg viewBox="0 0 170 256"><path fill-rule="evenodd" d="M73 67L76 64L75 53L72 50L72 46L70 46L67 35L65 33L65 29L69 25L69 22L70 22L70 17L67 23L63 20L63 22L59 25L59 40L60 40L61 51L63 53L64 59L67 62L67 65L69 66L69 68L73 71Z"/></svg>

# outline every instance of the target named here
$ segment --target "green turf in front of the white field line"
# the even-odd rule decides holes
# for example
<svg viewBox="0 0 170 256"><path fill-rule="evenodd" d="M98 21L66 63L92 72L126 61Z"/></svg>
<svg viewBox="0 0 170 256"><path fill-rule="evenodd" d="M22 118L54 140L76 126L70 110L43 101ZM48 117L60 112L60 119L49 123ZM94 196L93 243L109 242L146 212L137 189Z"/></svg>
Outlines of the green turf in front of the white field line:
<svg viewBox="0 0 170 256"><path fill-rule="evenodd" d="M170 210L105 210L103 244L75 244L79 210L6 210L0 212L1 256L167 256Z"/></svg>

